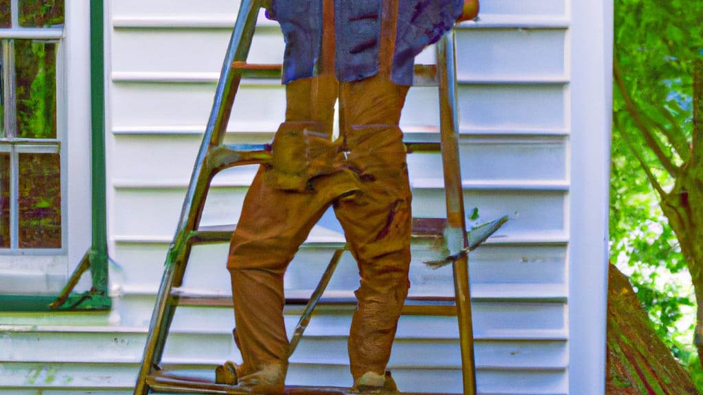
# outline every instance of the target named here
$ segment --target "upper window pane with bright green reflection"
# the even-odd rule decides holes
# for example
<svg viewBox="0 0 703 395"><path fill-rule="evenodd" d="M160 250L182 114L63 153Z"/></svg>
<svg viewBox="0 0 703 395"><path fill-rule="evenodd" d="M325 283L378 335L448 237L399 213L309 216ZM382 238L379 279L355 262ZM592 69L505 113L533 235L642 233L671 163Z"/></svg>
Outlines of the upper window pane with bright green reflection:
<svg viewBox="0 0 703 395"><path fill-rule="evenodd" d="M15 40L17 136L56 138L56 43Z"/></svg>

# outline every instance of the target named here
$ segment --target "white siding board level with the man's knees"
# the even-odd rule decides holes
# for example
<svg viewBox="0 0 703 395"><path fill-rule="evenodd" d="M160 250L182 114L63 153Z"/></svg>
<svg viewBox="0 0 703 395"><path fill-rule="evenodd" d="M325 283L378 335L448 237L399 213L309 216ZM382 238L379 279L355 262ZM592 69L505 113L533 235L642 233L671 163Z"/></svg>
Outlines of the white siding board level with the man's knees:
<svg viewBox="0 0 703 395"><path fill-rule="evenodd" d="M335 248L335 245L303 246L286 273L285 287L288 290L313 289ZM112 274L113 283L127 287L127 290L156 292L166 252L165 244L117 243L113 250L116 265ZM183 286L191 292L202 290L210 295L230 294L224 268L226 254L226 245L195 247ZM429 257L429 254L422 246L413 247L411 296L452 294L451 270L429 270L422 263L425 257ZM517 297L520 292L526 292L524 298L539 295L565 297L565 259L565 247L558 246L480 247L470 255L473 295L476 298L486 298L500 296L501 292L505 292L505 297ZM225 276L221 276L223 273ZM355 263L347 252L330 280L328 290L354 290L358 280Z"/></svg>

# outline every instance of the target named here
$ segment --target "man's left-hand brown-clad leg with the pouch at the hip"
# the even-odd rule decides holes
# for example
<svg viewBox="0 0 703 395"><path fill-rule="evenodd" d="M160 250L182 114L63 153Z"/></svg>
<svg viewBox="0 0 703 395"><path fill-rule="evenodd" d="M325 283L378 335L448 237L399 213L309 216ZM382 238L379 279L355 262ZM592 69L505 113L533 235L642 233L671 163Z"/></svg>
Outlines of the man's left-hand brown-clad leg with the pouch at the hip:
<svg viewBox="0 0 703 395"><path fill-rule="evenodd" d="M343 157L330 141L334 79L297 80L286 91L286 122L273 142L273 164L259 169L247 192L227 264L244 362L240 387L252 391L283 391L285 268L331 202L359 188L349 171L333 171Z"/></svg>

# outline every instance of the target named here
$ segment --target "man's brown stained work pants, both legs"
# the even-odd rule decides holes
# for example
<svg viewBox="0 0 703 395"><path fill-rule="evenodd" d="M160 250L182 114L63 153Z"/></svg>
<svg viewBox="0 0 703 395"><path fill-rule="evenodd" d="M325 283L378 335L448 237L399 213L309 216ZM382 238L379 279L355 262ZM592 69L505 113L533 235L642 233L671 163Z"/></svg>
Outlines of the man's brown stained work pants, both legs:
<svg viewBox="0 0 703 395"><path fill-rule="evenodd" d="M325 139L322 136L332 129L336 96L330 91L337 91L336 87L334 79L324 78L289 84L287 120L276 138L306 134ZM411 190L397 126L407 87L382 77L338 87L344 144L328 144L332 153L325 155L334 158L333 166L313 163L312 167L323 168L318 171L321 175L311 176L302 189L281 186L288 177L275 174L278 169L259 169L233 234L228 269L244 358L242 374L266 365L285 365L288 338L283 323L283 275L299 245L330 205L344 228L361 275L356 291L359 306L349 334L352 376L356 380L368 371L381 375L385 371L409 287ZM319 95L329 97L321 100ZM311 98L311 103L301 98ZM314 127L310 119L324 125L325 130L308 129ZM295 131L296 127L299 130ZM314 145L309 140L308 145ZM274 157L277 143L273 143ZM292 167L294 172L299 170L295 169L299 165Z"/></svg>

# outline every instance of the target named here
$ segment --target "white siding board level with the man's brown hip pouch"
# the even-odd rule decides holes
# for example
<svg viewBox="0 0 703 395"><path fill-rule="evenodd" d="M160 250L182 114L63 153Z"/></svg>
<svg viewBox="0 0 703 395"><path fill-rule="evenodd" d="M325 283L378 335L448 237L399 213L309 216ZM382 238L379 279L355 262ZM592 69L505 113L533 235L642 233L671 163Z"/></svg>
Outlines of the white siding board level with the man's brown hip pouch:
<svg viewBox="0 0 703 395"><path fill-rule="evenodd" d="M239 141L244 138L238 138ZM434 138L432 138L434 141ZM269 142L268 139L264 139ZM257 142L258 141L254 141ZM118 186L185 186L200 146L200 136L115 137L112 162ZM467 137L460 140L460 171L465 183L566 181L567 145L562 137ZM179 160L173 160L179 158ZM227 169L214 185L248 186L257 166ZM439 153L408 155L411 183L420 179L443 183Z"/></svg>

